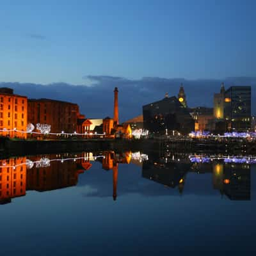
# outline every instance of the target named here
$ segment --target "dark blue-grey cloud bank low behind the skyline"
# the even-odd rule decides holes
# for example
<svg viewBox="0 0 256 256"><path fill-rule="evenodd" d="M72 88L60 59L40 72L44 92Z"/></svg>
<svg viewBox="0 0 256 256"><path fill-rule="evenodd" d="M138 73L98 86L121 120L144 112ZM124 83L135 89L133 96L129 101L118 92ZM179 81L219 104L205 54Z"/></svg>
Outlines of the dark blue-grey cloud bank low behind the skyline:
<svg viewBox="0 0 256 256"><path fill-rule="evenodd" d="M90 84L32 84L32 83L0 83L0 86L11 87L15 93L27 95L29 98L51 98L76 102L81 113L88 118L104 118L113 116L113 90L119 90L120 120L125 121L141 115L142 106L156 100L179 93L183 83L188 105L213 106L213 94L220 92L221 82L225 88L232 85L252 86L252 114L256 114L256 77L227 77L226 79L198 79L143 77L127 79L115 76L84 76ZM85 82L87 83L87 82ZM88 82L89 83L89 82Z"/></svg>

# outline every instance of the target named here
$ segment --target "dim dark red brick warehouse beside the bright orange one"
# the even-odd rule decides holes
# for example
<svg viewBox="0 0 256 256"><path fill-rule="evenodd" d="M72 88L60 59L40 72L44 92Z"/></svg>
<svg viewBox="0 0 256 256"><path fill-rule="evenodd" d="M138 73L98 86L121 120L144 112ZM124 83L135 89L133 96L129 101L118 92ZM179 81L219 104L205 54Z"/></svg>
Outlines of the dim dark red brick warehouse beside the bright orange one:
<svg viewBox="0 0 256 256"><path fill-rule="evenodd" d="M49 124L51 132L77 131L77 119L84 116L79 113L79 106L74 103L52 99L28 100L28 123Z"/></svg>

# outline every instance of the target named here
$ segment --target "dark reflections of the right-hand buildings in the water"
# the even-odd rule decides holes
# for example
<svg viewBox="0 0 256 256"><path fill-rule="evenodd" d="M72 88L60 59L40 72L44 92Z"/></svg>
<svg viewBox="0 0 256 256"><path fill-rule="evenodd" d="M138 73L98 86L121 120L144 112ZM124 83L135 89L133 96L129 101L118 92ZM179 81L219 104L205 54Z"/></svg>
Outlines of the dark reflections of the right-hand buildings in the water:
<svg viewBox="0 0 256 256"><path fill-rule="evenodd" d="M143 162L142 177L179 189L185 188L186 175L212 173L212 187L230 200L250 200L251 166L247 163L225 163L222 160L189 163L188 156L180 154L149 156Z"/></svg>

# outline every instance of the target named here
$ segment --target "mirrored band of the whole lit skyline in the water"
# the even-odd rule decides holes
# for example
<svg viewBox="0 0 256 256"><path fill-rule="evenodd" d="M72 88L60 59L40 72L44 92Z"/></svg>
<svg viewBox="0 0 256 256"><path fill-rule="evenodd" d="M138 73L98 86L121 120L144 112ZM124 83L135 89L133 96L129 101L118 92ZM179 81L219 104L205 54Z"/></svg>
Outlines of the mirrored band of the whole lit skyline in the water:
<svg viewBox="0 0 256 256"><path fill-rule="evenodd" d="M228 160L227 160L228 159ZM137 164L142 167L142 177L178 189L186 189L188 173L212 173L212 187L230 200L250 200L250 164L252 157L205 157L113 151L92 154L59 154L17 157L0 160L0 204L26 195L26 191L50 191L76 186L79 175L92 167L93 161L102 163L102 169L112 171L113 200L117 198L118 166ZM153 191L154 192L154 191Z"/></svg>

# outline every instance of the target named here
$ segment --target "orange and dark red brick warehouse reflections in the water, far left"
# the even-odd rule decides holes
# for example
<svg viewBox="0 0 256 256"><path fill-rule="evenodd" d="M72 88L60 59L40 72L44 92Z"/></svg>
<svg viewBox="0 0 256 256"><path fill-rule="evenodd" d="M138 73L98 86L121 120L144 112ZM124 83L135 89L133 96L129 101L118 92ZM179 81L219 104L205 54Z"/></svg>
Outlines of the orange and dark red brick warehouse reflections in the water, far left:
<svg viewBox="0 0 256 256"><path fill-rule="evenodd" d="M49 156L54 157L54 156ZM38 162L40 157L29 157ZM51 161L47 166L33 164L29 168L26 157L0 160L0 204L12 202L12 198L26 195L26 191L50 191L76 186L79 174L92 167L90 153L77 156L74 161Z"/></svg>

